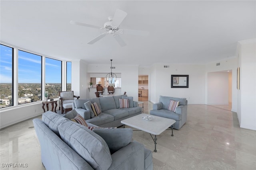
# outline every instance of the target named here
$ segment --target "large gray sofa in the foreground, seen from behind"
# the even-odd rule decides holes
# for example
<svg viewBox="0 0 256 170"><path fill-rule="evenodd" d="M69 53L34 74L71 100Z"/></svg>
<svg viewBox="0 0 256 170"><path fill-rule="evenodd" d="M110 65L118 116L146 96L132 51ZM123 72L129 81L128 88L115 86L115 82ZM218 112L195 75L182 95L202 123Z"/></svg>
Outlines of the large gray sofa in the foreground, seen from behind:
<svg viewBox="0 0 256 170"><path fill-rule="evenodd" d="M52 111L33 123L47 170L153 170L152 152L132 140L132 129L91 131Z"/></svg>

